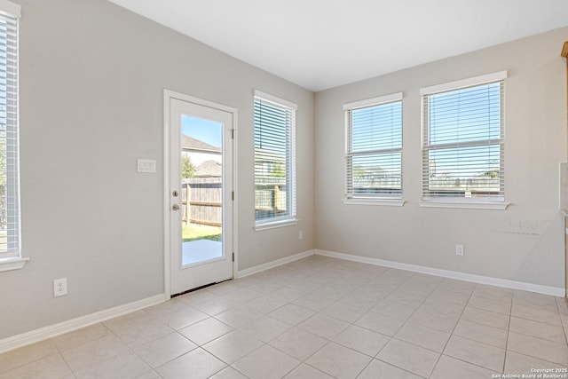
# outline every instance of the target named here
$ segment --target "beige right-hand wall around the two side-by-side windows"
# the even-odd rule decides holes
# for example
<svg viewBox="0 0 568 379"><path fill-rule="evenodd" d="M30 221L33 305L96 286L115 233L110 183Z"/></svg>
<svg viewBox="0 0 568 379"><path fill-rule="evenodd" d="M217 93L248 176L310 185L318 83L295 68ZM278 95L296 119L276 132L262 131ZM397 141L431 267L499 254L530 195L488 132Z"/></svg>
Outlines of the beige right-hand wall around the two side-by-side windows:
<svg viewBox="0 0 568 379"><path fill-rule="evenodd" d="M564 287L558 164L566 161L568 28L316 94L318 249ZM388 51L385 51L388 53ZM509 70L505 176L509 209L424 209L420 88ZM404 92L402 208L344 205L343 103ZM323 174L325 173L325 174ZM455 256L455 245L465 256Z"/></svg>

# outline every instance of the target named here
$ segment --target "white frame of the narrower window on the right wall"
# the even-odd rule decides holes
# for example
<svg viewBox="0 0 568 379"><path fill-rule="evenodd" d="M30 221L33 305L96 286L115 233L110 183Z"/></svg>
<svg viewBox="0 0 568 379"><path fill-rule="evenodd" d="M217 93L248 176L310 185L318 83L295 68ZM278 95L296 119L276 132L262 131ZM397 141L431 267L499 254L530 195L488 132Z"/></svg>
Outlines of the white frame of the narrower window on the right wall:
<svg viewBox="0 0 568 379"><path fill-rule="evenodd" d="M344 144L344 160L345 160L345 183L344 183L344 193L343 193L343 203L350 204L350 205L384 205L384 206L396 206L401 207L405 204L406 201L403 200L403 170L402 170L402 161L403 161L403 146L404 146L404 138L403 138L403 130L404 130L404 122L403 122L403 93L396 92L390 95L383 95L372 99L364 99L359 101L354 101L351 103L343 104L343 113L345 119L345 144ZM400 103L400 147L397 148L388 148L388 149L370 149L364 152L353 152L351 141L352 141L352 130L353 130L353 123L352 123L352 111L363 109L363 108L370 108L370 107L380 107L383 105L389 105L392 103ZM352 184L350 186L350 173L351 173L351 180L352 180L352 158L353 156L364 156L368 154L392 154L392 153L399 153L400 154L400 193L379 193L376 195L365 195L365 194L356 194L352 191ZM350 191L351 188L351 191Z"/></svg>

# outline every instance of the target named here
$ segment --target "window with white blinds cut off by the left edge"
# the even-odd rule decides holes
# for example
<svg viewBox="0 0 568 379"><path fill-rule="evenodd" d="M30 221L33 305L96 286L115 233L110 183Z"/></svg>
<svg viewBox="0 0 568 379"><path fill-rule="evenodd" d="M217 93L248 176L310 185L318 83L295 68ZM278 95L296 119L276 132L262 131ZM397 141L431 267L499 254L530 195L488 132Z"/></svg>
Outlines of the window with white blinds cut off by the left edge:
<svg viewBox="0 0 568 379"><path fill-rule="evenodd" d="M20 257L19 18L20 5L0 2L0 261Z"/></svg>

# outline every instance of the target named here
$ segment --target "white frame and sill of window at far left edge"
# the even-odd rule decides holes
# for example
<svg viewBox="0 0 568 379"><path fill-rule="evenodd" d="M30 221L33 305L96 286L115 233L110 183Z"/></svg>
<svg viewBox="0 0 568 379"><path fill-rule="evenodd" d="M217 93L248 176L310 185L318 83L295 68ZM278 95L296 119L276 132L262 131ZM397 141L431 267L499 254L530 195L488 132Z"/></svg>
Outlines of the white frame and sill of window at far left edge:
<svg viewBox="0 0 568 379"><path fill-rule="evenodd" d="M20 43L20 17L21 6L7 0L0 0L0 17L9 20L14 25L12 27L13 38L6 39L6 46L11 46L12 64L6 64L5 71L12 73L7 75L6 88L6 133L11 134L15 141L12 144L6 143L6 204L7 215L6 223L12 225L7 227L7 243L15 246L13 249L6 249L0 252L0 272L21 269L29 258L21 256L21 227L20 227L20 99L19 99L19 43ZM7 52L8 54L8 52ZM8 58L6 58L8 59ZM12 83L8 83L12 82ZM9 89L11 88L11 89ZM12 109L10 109L12 108ZM8 115L12 114L12 115ZM6 137L8 138L8 137ZM9 169L12 167L12 169Z"/></svg>

